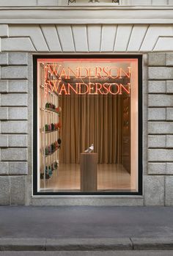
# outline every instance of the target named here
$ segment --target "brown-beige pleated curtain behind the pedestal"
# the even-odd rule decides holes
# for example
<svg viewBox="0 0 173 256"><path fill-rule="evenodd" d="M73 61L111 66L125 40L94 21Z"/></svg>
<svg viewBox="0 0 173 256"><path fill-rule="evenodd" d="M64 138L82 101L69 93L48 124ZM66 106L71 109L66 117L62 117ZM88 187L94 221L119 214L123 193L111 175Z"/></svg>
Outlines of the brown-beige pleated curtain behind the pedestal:
<svg viewBox="0 0 173 256"><path fill-rule="evenodd" d="M98 163L121 163L121 96L61 95L60 162L79 164L80 153L94 143Z"/></svg>

